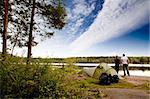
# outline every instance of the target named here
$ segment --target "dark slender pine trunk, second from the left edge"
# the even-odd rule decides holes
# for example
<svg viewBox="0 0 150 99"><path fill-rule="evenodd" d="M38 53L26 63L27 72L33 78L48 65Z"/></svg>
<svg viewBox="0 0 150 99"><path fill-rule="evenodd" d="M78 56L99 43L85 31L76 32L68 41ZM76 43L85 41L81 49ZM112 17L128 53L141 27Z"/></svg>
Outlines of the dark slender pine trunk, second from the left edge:
<svg viewBox="0 0 150 99"><path fill-rule="evenodd" d="M30 31L29 31L29 41L28 41L28 55L27 55L27 64L30 63L31 51L32 51L32 30L33 30L33 21L34 21L34 12L35 12L35 0L33 0L32 12L31 12L31 22L30 22Z"/></svg>

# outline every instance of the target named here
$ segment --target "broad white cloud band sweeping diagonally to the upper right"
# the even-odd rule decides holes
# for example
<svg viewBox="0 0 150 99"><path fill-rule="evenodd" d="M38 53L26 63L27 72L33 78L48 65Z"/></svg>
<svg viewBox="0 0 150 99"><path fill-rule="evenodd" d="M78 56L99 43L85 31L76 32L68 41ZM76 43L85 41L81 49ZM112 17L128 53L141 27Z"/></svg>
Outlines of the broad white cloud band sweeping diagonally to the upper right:
<svg viewBox="0 0 150 99"><path fill-rule="evenodd" d="M148 18L148 0L105 0L89 29L77 38L70 48L73 52L84 51L92 45L132 31Z"/></svg>

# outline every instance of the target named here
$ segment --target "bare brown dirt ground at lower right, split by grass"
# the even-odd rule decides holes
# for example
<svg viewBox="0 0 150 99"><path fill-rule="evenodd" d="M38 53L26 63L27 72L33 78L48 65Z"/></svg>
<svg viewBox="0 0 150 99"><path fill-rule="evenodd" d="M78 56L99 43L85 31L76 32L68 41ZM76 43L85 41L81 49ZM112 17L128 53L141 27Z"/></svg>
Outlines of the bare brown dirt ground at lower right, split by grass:
<svg viewBox="0 0 150 99"><path fill-rule="evenodd" d="M150 77L124 77L124 80L140 86L145 83L150 83ZM122 88L106 88L102 90L104 93L103 99L150 99L150 90L141 89L122 89Z"/></svg>

